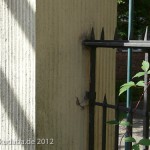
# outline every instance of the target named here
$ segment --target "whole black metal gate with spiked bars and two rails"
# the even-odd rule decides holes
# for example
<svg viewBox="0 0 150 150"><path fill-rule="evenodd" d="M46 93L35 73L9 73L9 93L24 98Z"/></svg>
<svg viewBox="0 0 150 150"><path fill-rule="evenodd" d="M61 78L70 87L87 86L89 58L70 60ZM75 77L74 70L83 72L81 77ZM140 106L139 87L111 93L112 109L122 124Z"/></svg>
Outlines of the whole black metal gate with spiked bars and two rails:
<svg viewBox="0 0 150 150"><path fill-rule="evenodd" d="M125 112L129 114L130 121L132 122L133 109L132 106L130 108L120 106L118 102L115 105L110 105L107 103L106 96L102 103L96 102L96 92L95 92L95 70L96 70L96 48L105 47L105 48L142 48L145 49L145 59L148 61L148 51L147 48L150 48L150 42L145 40L104 40L103 39L104 31L102 30L101 39L95 40L94 29L91 31L91 36L89 40L83 41L83 46L90 49L90 89L88 92L89 98L89 150L94 150L94 114L95 114L95 106L100 106L103 109L102 115L102 150L106 150L106 116L107 109L115 110L115 117L118 120L119 113ZM147 37L147 32L145 37ZM148 80L145 77L145 80ZM148 95L147 92L144 94L144 108L143 110L137 110L136 113L143 116L143 137L149 138L149 116L150 112L148 112ZM130 129L132 135L132 128ZM118 149L118 135L119 135L119 127L115 127L115 147L114 150ZM131 149L130 144L130 149ZM145 146L145 150L148 150L148 147Z"/></svg>

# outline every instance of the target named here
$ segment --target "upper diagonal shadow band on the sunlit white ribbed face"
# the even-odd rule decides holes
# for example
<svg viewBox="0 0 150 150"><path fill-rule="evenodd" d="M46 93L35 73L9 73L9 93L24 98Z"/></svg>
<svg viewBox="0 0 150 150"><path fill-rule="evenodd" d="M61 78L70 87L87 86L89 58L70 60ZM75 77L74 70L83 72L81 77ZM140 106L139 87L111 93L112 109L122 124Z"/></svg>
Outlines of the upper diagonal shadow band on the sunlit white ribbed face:
<svg viewBox="0 0 150 150"><path fill-rule="evenodd" d="M20 25L22 31L26 35L27 40L35 48L35 42L31 36L32 33L35 33L35 12L28 3L27 0L4 0L7 5L7 8L10 10L11 14L14 16L15 20ZM32 31L30 33L29 31Z"/></svg>

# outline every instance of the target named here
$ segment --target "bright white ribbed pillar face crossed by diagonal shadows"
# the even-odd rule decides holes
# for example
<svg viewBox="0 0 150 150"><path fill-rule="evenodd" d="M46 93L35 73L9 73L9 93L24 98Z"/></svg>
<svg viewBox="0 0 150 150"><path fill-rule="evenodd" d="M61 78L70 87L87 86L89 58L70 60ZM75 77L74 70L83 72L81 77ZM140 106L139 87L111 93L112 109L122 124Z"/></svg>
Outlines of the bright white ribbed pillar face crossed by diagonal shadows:
<svg viewBox="0 0 150 150"><path fill-rule="evenodd" d="M35 0L0 0L0 140L30 139L35 140Z"/></svg>

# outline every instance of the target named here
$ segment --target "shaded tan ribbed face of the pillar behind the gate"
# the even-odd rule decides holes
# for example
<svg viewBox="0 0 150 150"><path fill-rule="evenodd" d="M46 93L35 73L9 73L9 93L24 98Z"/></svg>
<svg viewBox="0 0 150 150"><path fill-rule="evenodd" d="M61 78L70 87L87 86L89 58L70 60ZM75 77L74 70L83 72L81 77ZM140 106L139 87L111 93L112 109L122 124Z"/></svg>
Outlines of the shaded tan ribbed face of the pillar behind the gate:
<svg viewBox="0 0 150 150"><path fill-rule="evenodd" d="M89 89L89 51L81 42L92 26L96 38L102 27L106 39L113 38L116 1L37 0L36 23L37 138L54 138L54 145L37 145L37 150L88 150L88 106L81 110L76 105L76 97L82 101ZM97 101L106 93L114 103L115 50L98 50L96 79ZM100 112L95 117L95 150L101 146ZM108 119L113 116L108 113ZM112 150L113 135L109 127L107 150Z"/></svg>

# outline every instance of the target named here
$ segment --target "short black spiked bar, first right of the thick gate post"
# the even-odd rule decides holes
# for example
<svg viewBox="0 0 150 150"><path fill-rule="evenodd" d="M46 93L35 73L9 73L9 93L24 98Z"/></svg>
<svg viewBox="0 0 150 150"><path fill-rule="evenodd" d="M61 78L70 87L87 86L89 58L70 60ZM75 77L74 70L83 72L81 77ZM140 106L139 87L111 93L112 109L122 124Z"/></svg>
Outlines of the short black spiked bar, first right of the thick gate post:
<svg viewBox="0 0 150 150"><path fill-rule="evenodd" d="M102 122L102 150L106 150L106 117L107 117L107 99L106 95L103 101L103 122Z"/></svg>

